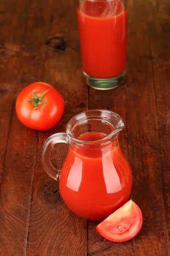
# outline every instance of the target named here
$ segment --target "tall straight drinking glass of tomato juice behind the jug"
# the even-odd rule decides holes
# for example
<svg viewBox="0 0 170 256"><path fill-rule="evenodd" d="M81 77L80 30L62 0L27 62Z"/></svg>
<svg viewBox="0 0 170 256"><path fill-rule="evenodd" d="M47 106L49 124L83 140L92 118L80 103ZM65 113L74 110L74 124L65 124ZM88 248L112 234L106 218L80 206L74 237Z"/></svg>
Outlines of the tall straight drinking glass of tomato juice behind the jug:
<svg viewBox="0 0 170 256"><path fill-rule="evenodd" d="M127 0L77 0L77 16L86 83L118 87L126 74Z"/></svg>

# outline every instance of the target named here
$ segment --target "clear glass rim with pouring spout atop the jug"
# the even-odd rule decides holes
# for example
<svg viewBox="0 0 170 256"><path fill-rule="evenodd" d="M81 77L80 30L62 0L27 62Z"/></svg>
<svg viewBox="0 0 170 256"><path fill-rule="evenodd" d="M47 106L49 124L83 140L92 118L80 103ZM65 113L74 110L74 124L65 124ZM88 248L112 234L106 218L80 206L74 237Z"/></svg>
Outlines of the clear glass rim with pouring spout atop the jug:
<svg viewBox="0 0 170 256"><path fill-rule="evenodd" d="M99 118L101 120L106 120L106 122L110 123L113 126L113 131L106 134L104 137L95 139L95 140L81 140L74 136L73 130L77 124L82 121L88 121L90 119ZM71 140L78 144L85 144L85 145L96 145L108 142L118 137L119 132L125 127L125 124L122 118L115 112L110 110L103 110L103 109L92 109L83 111L78 113L77 115L73 116L66 125L66 133Z"/></svg>

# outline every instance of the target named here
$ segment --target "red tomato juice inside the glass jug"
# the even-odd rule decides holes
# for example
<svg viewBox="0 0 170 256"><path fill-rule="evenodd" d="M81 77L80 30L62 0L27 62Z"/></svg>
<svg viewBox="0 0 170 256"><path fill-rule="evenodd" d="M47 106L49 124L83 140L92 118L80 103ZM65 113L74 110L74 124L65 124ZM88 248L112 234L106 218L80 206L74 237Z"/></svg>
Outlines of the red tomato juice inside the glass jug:
<svg viewBox="0 0 170 256"><path fill-rule="evenodd" d="M96 140L103 136L90 132L78 138ZM131 169L118 140L105 147L70 145L59 178L59 191L74 213L102 220L125 204L131 187Z"/></svg>

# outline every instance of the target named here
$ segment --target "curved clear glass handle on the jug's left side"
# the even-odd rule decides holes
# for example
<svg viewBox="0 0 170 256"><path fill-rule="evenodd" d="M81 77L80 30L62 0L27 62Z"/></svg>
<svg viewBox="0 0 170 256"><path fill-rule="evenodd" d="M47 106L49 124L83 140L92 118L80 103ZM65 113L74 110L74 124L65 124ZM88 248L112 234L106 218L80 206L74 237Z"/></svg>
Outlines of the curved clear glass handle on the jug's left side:
<svg viewBox="0 0 170 256"><path fill-rule="evenodd" d="M57 143L69 144L68 136L66 133L57 133L51 135L46 141L42 148L41 162L45 172L54 180L59 180L60 170L54 168L50 161L50 154L53 146Z"/></svg>

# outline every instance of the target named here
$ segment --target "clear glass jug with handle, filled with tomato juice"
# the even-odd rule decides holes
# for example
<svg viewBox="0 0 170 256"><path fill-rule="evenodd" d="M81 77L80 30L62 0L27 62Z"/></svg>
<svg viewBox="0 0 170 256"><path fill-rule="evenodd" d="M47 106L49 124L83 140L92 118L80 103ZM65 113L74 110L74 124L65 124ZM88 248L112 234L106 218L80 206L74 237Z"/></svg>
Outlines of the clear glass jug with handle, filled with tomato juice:
<svg viewBox="0 0 170 256"><path fill-rule="evenodd" d="M65 204L77 215L102 220L126 203L132 187L130 165L118 135L121 117L107 110L88 110L74 116L66 133L54 134L42 150L42 166L59 179ZM50 162L52 146L68 143L68 154L59 171Z"/></svg>

